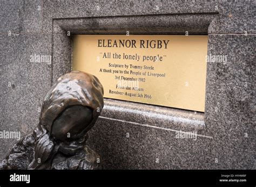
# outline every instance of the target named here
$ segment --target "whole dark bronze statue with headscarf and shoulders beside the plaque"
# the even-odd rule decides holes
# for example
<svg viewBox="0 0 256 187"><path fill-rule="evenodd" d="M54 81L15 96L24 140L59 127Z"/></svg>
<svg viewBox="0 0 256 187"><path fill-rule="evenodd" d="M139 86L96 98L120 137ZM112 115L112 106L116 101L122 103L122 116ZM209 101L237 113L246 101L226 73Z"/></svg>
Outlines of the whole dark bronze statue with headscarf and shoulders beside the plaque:
<svg viewBox="0 0 256 187"><path fill-rule="evenodd" d="M99 155L86 146L87 132L103 109L97 77L72 71L45 96L39 124L0 162L0 169L97 169Z"/></svg>

